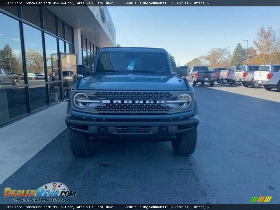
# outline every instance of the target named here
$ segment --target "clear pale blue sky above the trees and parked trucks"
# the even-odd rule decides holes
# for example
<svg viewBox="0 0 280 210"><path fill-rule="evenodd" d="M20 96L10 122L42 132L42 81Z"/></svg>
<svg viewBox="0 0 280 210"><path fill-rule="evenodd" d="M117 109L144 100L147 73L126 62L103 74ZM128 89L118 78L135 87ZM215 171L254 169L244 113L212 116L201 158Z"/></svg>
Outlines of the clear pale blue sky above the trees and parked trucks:
<svg viewBox="0 0 280 210"><path fill-rule="evenodd" d="M261 26L280 29L280 7L108 7L121 46L159 47L180 65L211 48L246 48Z"/></svg>

